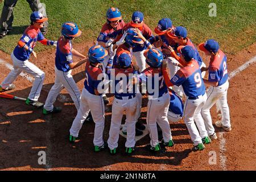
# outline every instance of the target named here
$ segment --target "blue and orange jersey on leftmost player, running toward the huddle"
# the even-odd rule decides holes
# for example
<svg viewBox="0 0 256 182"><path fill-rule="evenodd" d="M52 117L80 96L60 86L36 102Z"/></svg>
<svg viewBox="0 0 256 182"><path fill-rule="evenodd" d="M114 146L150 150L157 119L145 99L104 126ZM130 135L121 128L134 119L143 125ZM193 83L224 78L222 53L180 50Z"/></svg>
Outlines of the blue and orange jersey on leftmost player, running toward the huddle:
<svg viewBox="0 0 256 182"><path fill-rule="evenodd" d="M34 27L29 26L24 31L22 37L20 38L20 41L25 43L28 46L28 48L32 50L34 49L36 42L43 39L44 36L39 29L35 30ZM29 59L31 53L32 51L25 50L23 47L20 46L16 46L13 51L14 56L21 61L26 61L27 59Z"/></svg>

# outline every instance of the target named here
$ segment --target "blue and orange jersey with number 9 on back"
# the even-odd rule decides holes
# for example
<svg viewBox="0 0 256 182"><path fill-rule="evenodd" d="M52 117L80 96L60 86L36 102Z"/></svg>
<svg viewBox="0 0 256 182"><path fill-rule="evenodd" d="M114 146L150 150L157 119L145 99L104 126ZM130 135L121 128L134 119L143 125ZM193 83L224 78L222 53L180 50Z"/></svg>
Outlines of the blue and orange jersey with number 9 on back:
<svg viewBox="0 0 256 182"><path fill-rule="evenodd" d="M201 96L205 93L204 81L196 60L192 60L191 63L180 68L171 78L171 82L177 86L182 85L187 97Z"/></svg>

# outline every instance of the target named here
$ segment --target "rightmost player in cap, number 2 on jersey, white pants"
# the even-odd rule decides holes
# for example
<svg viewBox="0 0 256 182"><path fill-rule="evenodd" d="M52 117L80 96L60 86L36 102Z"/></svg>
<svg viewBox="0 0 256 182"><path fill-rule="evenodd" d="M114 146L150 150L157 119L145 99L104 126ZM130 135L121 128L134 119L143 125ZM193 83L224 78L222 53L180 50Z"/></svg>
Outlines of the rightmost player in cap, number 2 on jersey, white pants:
<svg viewBox="0 0 256 182"><path fill-rule="evenodd" d="M204 118L209 137L211 139L217 139L214 127L212 126L212 118L210 117L210 108L217 101L221 106L222 121L215 122L215 125L217 127L222 127L226 131L232 130L227 101L229 88L227 59L216 40L209 39L207 42L201 43L199 49L204 51L205 55L210 56L209 67L202 68L203 71L209 71L208 80L204 79L204 82L205 84L210 85L210 87L207 92L207 102L203 106L201 114Z"/></svg>

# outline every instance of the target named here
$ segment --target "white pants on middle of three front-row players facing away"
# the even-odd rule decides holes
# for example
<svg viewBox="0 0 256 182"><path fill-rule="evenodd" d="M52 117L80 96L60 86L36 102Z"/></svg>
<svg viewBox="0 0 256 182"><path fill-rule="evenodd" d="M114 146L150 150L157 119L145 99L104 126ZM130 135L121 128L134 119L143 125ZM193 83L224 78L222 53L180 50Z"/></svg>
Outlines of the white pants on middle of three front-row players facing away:
<svg viewBox="0 0 256 182"><path fill-rule="evenodd" d="M111 150L118 147L119 130L123 112L126 113L127 138L125 147L135 146L135 123L136 123L137 98L123 97L123 100L114 98L112 105L112 118L109 130L108 146Z"/></svg>

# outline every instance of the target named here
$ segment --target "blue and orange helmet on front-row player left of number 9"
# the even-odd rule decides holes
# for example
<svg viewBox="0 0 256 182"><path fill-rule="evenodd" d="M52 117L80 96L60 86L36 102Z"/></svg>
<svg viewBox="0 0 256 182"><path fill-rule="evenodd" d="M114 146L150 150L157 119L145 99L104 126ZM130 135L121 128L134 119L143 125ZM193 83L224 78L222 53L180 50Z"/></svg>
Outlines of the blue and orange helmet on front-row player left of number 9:
<svg viewBox="0 0 256 182"><path fill-rule="evenodd" d="M146 63L150 67L159 68L163 63L163 54L157 48L147 49L144 52L144 56L146 57Z"/></svg>

